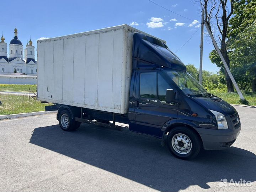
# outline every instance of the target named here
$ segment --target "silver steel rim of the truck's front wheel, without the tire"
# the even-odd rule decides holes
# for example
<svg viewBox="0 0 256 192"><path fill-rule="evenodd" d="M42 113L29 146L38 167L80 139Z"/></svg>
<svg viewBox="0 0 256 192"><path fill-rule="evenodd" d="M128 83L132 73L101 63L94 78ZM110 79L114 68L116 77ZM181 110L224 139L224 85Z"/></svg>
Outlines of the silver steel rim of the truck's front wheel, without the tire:
<svg viewBox="0 0 256 192"><path fill-rule="evenodd" d="M172 137L171 144L172 144L172 148L178 154L182 154L182 155L188 154L192 148L191 139L183 133L175 134Z"/></svg>

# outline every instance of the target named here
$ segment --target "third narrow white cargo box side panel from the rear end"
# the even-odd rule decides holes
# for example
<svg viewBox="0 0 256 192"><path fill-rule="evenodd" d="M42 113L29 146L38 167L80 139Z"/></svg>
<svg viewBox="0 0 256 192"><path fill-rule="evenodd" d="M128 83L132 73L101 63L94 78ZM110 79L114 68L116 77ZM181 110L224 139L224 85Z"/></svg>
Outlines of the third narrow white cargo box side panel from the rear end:
<svg viewBox="0 0 256 192"><path fill-rule="evenodd" d="M53 54L53 99L62 100L63 39L54 41Z"/></svg>

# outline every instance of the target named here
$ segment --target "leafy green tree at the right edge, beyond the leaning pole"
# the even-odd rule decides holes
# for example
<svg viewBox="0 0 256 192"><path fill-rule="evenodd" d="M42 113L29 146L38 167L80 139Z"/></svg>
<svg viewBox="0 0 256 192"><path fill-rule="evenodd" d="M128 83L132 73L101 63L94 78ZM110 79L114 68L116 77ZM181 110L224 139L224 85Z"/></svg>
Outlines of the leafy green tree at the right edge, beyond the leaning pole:
<svg viewBox="0 0 256 192"><path fill-rule="evenodd" d="M230 19L230 59L244 89L256 91L256 0L235 0Z"/></svg>

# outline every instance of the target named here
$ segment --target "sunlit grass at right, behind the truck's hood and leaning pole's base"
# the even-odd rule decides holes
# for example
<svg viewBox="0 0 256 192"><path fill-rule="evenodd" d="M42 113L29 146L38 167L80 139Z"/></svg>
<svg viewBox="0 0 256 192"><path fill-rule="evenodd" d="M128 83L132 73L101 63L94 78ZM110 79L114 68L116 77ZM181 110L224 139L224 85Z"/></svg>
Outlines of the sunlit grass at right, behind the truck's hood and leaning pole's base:
<svg viewBox="0 0 256 192"><path fill-rule="evenodd" d="M230 104L241 104L239 103L240 97L236 92L228 93L223 90L209 90L209 92L213 95L222 98ZM245 97L245 99L249 101L249 105L256 105L256 92L242 91L242 94Z"/></svg>

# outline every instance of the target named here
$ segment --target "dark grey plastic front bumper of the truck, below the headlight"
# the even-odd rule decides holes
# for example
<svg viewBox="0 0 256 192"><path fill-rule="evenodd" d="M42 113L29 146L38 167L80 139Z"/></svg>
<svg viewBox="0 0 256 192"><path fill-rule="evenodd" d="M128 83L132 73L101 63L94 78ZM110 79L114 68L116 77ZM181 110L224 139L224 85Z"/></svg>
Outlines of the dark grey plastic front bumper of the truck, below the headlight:
<svg viewBox="0 0 256 192"><path fill-rule="evenodd" d="M238 137L241 125L233 129L205 129L194 127L201 136L206 150L222 150L231 146Z"/></svg>

